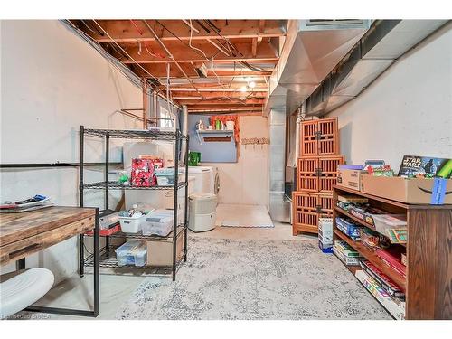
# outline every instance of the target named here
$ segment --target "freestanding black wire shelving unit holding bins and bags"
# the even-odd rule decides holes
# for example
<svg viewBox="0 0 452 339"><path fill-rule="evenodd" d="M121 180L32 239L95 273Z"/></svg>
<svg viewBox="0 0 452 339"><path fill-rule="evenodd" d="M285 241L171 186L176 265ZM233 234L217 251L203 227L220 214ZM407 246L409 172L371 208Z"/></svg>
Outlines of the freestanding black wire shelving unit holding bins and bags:
<svg viewBox="0 0 452 339"><path fill-rule="evenodd" d="M105 140L105 170L104 170L104 180L97 183L85 183L83 175L84 167L84 144L85 137L100 137ZM112 138L122 138L122 139L138 139L138 140L161 140L174 142L174 184L171 186L149 186L149 187L137 187L131 185L123 185L115 181L110 181L108 178L108 168L109 168L109 143ZM183 143L186 143L184 152L184 181L179 182L179 153ZM179 129L175 131L161 131L157 129L150 130L118 130L118 129L91 129L80 126L80 166L79 166L79 191L80 191L80 207L84 207L84 193L85 190L104 190L104 207L105 210L109 210L108 203L108 191L109 190L160 190L160 191L174 191L174 227L173 231L166 237L159 237L155 235L143 235L140 233L124 233L117 232L105 237L106 245L100 250L100 260L99 266L101 268L126 268L126 269L139 269L146 274L150 275L172 275L173 280L175 280L176 272L178 268L187 260L187 226L188 226L188 144L189 137L184 136ZM178 223L178 193L181 188L184 188L184 222L182 224ZM184 232L184 247L182 251L182 256L177 256L177 239L181 236L181 232ZM92 267L94 264L94 258L92 254L85 257L85 245L84 240L88 235L80 235L80 276L83 276L85 267ZM137 240L153 240L153 241L165 241L171 242L173 245L173 260L170 266L118 266L116 260L116 255L114 250L116 247L110 245L110 238L127 238L127 239L137 239Z"/></svg>

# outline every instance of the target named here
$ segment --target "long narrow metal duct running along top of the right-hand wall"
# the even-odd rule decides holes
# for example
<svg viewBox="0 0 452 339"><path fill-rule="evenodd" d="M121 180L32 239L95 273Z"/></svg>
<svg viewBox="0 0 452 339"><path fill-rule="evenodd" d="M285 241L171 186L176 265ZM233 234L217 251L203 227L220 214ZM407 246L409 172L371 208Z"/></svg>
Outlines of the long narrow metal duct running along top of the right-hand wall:
<svg viewBox="0 0 452 339"><path fill-rule="evenodd" d="M306 99L306 114L321 116L356 98L405 52L447 20L379 20Z"/></svg>

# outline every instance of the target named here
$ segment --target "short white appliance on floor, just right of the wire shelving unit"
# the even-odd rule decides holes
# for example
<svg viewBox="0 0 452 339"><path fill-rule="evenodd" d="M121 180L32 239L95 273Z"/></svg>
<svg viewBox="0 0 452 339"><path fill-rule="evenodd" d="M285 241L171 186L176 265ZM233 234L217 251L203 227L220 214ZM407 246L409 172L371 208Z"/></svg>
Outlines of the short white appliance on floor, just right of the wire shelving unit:
<svg viewBox="0 0 452 339"><path fill-rule="evenodd" d="M215 228L217 196L213 193L193 193L189 197L190 217L188 228L194 232Z"/></svg>

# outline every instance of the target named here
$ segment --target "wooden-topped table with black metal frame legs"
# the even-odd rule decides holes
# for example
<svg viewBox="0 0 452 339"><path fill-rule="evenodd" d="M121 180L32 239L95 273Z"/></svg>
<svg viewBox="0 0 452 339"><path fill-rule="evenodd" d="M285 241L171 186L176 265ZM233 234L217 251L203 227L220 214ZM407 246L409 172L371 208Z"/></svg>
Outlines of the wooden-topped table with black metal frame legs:
<svg viewBox="0 0 452 339"><path fill-rule="evenodd" d="M31 212L0 213L2 266L18 260L18 268L25 268L27 256L91 230L94 230L94 310L30 306L27 311L99 315L99 209L54 206Z"/></svg>

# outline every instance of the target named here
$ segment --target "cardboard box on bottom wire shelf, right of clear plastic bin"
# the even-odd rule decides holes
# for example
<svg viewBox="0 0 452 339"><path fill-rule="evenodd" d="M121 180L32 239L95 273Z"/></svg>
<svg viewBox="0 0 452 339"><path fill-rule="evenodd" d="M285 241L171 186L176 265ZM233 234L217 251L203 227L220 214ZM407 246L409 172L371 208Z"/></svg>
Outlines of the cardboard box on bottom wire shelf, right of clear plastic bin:
<svg viewBox="0 0 452 339"><path fill-rule="evenodd" d="M184 249L184 231L181 231L176 240L176 258L182 258ZM147 265L148 266L172 266L173 242L162 240L147 241Z"/></svg>

